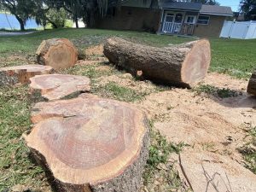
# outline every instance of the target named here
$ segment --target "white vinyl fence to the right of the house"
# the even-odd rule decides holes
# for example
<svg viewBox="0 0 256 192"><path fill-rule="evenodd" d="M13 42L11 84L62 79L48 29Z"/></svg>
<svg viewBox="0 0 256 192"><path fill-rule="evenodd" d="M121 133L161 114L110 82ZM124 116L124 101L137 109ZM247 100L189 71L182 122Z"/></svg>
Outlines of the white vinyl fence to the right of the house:
<svg viewBox="0 0 256 192"><path fill-rule="evenodd" d="M256 38L256 21L224 21L220 38Z"/></svg>

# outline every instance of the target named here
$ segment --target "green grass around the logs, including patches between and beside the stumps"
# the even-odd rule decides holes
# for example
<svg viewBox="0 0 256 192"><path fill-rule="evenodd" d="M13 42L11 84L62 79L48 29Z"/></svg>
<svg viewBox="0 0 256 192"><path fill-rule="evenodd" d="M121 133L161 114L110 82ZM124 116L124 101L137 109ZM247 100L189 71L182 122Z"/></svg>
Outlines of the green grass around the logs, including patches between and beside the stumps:
<svg viewBox="0 0 256 192"><path fill-rule="evenodd" d="M65 29L35 32L19 37L0 37L0 67L26 64L26 58L34 55L38 45L48 38L69 38L73 43L84 49L93 44L100 44L108 37L119 36L133 42L149 44L152 46L167 46L168 44L179 44L194 38L181 38L173 36L160 36L146 32L119 32L95 29ZM210 39L212 44L211 71L228 73L236 78L247 79L253 68L256 67L256 39ZM96 66L97 67L97 66ZM73 73L86 75L92 79L92 90L95 94L108 96L120 101L134 102L143 99L147 92L131 90L120 87L118 84L109 82L97 87L95 79L100 76L108 76L109 73L98 73L96 67L84 66L73 67L62 73ZM121 72L113 69L111 74ZM152 91L160 91L163 88L155 87ZM164 88L165 89L165 88ZM35 166L29 158L29 150L21 139L24 131L30 130L29 113L31 103L27 99L27 86L0 89L0 192L10 189L17 184L32 186L44 191L45 177L43 170ZM166 140L154 133L155 139L151 150L152 159L148 164L148 175L153 171L152 166L165 163L166 155L159 153L178 152L180 146L166 143ZM161 145L159 143L162 143ZM159 148L159 146L162 146ZM167 152L166 152L167 151ZM160 156L162 155L162 156ZM33 179L32 179L33 178ZM148 178L147 178L148 179ZM172 176L172 185L178 188L176 176Z"/></svg>

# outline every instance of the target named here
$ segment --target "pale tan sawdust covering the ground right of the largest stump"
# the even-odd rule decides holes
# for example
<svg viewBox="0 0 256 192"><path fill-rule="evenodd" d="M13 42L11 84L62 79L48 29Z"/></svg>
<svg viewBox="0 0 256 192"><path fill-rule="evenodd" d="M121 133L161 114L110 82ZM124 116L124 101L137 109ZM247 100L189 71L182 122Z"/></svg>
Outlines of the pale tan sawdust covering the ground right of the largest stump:
<svg viewBox="0 0 256 192"><path fill-rule="evenodd" d="M208 74L203 84L239 91L247 86L246 81L217 73ZM243 145L247 135L243 128L256 125L256 111L253 109L256 100L246 92L222 99L198 96L191 90L172 89L146 96L138 104L150 119L155 120L155 127L170 141L229 154L240 161L241 155L236 148Z"/></svg>

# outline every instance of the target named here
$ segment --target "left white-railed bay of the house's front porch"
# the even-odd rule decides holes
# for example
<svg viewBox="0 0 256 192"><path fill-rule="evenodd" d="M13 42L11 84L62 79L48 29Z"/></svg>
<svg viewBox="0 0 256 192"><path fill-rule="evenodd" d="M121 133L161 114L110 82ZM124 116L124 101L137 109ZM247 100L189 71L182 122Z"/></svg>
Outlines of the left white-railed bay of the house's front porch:
<svg viewBox="0 0 256 192"><path fill-rule="evenodd" d="M162 32L178 33L180 32L182 22L183 22L182 13L166 12Z"/></svg>

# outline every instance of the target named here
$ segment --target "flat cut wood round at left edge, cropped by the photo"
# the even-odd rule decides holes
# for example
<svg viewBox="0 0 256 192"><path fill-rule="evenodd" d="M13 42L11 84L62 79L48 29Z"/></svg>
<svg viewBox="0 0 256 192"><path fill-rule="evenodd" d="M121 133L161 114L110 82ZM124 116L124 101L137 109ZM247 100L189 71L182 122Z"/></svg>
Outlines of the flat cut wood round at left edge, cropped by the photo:
<svg viewBox="0 0 256 192"><path fill-rule="evenodd" d="M29 83L29 79L40 74L53 73L54 69L42 65L24 65L0 68L0 85Z"/></svg>

